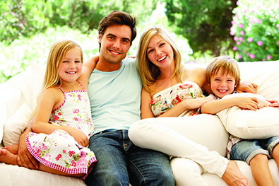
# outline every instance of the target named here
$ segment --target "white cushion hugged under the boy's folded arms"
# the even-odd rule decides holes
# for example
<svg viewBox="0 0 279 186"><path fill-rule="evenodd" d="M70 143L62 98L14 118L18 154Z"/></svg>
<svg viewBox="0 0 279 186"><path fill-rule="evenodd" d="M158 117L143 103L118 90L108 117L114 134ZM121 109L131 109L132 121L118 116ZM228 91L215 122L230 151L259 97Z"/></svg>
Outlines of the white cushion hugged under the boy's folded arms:
<svg viewBox="0 0 279 186"><path fill-rule="evenodd" d="M222 99L235 96L254 96L264 99L261 95L236 93L226 95ZM242 139L265 139L279 135L279 110L274 107L263 107L260 110L241 110L234 106L217 113L227 132Z"/></svg>

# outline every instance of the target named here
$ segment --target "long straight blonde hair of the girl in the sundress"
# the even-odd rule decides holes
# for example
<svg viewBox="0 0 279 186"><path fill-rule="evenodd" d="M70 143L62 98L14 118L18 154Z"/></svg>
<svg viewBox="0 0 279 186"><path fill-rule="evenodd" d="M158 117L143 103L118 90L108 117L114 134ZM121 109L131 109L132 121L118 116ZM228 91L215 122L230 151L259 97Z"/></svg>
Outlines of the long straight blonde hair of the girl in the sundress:
<svg viewBox="0 0 279 186"><path fill-rule="evenodd" d="M52 86L61 86L61 79L59 77L60 64L62 63L66 52L78 49L81 52L81 62L83 62L83 50L78 43L72 40L60 40L54 42L47 57L47 67L44 75L43 91Z"/></svg>

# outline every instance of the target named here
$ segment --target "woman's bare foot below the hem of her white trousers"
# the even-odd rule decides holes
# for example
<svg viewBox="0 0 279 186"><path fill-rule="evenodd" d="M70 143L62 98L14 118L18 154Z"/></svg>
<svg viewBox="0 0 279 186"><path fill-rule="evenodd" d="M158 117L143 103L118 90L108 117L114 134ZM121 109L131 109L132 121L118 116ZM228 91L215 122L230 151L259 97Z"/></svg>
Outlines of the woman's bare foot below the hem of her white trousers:
<svg viewBox="0 0 279 186"><path fill-rule="evenodd" d="M222 175L224 180L229 186L247 186L248 180L239 170L238 165L235 161L230 161L227 164L225 173Z"/></svg>

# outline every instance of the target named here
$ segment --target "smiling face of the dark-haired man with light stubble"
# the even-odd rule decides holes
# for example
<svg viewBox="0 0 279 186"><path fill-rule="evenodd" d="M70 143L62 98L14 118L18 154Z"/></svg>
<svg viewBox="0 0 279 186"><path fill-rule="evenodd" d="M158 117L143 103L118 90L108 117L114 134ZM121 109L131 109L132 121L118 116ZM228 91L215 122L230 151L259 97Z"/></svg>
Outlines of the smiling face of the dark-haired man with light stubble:
<svg viewBox="0 0 279 186"><path fill-rule="evenodd" d="M131 45L131 28L128 25L109 25L98 40L101 44L100 62L120 65Z"/></svg>

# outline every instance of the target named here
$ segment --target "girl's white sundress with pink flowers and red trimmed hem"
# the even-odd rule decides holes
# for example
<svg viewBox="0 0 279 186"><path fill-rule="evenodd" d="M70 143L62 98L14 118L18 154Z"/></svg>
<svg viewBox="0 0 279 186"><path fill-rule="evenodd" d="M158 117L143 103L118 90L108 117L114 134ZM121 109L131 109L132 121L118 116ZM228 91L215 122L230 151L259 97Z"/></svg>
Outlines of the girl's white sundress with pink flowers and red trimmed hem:
<svg viewBox="0 0 279 186"><path fill-rule="evenodd" d="M83 91L61 91L64 93L64 103L52 112L49 123L74 127L89 138L95 127L91 119L88 93L84 88ZM68 132L61 129L52 134L30 132L25 141L37 161L64 173L88 175L96 161L93 151L79 145Z"/></svg>

